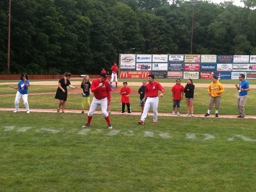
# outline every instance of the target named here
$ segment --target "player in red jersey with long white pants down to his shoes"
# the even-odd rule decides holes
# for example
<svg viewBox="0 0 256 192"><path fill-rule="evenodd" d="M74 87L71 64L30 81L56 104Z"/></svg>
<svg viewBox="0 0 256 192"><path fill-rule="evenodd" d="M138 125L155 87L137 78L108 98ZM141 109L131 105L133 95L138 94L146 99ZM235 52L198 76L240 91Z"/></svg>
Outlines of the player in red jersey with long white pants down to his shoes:
<svg viewBox="0 0 256 192"><path fill-rule="evenodd" d="M145 101L146 99L147 100L145 102L144 110L140 120L138 121L138 124L144 125L144 121L145 121L145 118L147 118L150 106L152 107L152 111L154 113L153 124L157 123L157 107L158 107L158 101L159 101L158 91L161 91L159 96L163 97L164 95L163 86L161 86L160 83L155 81L155 76L149 75L148 84L146 85L146 88L145 88L145 96L142 99L143 101Z"/></svg>

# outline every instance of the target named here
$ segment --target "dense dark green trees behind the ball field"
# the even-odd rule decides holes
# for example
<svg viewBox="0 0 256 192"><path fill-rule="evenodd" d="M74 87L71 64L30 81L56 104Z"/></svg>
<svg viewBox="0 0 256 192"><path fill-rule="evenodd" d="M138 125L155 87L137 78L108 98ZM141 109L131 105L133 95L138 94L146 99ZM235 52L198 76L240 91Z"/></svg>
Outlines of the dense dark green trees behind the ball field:
<svg viewBox="0 0 256 192"><path fill-rule="evenodd" d="M99 74L120 53L190 54L192 25L193 54L256 54L254 0L243 0L243 8L180 0L4 0L2 74L8 73L9 1L12 74Z"/></svg>

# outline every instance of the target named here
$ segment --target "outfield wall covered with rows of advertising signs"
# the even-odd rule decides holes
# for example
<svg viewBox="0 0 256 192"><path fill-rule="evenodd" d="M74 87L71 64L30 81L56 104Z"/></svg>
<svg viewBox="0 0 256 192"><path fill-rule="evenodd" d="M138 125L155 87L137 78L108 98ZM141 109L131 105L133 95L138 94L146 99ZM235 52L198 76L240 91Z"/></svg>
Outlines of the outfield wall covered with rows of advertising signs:
<svg viewBox="0 0 256 192"><path fill-rule="evenodd" d="M256 55L120 54L120 78L256 79Z"/></svg>

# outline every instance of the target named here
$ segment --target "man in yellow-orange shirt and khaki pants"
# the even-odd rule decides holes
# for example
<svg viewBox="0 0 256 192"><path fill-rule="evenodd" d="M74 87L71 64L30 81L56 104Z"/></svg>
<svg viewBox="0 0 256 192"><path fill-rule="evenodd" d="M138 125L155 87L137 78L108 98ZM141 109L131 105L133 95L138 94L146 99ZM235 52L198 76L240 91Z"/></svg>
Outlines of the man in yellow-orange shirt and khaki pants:
<svg viewBox="0 0 256 192"><path fill-rule="evenodd" d="M213 104L215 104L215 116L218 117L218 112L220 109L220 98L221 94L224 92L222 84L218 81L217 76L212 77L212 83L208 86L208 94L211 96L209 107L207 113L204 116L209 116Z"/></svg>

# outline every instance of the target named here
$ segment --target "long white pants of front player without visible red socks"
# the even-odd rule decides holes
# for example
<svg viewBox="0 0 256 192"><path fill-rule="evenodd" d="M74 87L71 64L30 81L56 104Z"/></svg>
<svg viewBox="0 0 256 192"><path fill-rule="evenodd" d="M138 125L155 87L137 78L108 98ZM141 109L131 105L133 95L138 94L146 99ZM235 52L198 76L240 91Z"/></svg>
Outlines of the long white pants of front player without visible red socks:
<svg viewBox="0 0 256 192"><path fill-rule="evenodd" d="M154 113L153 121L157 122L158 102L159 102L159 98L158 97L148 97L147 98L147 100L145 102L143 113L142 113L141 118L140 118L141 121L145 122L145 119L147 118L147 115L148 115L148 111L149 111L149 109L151 107L152 111Z"/></svg>

